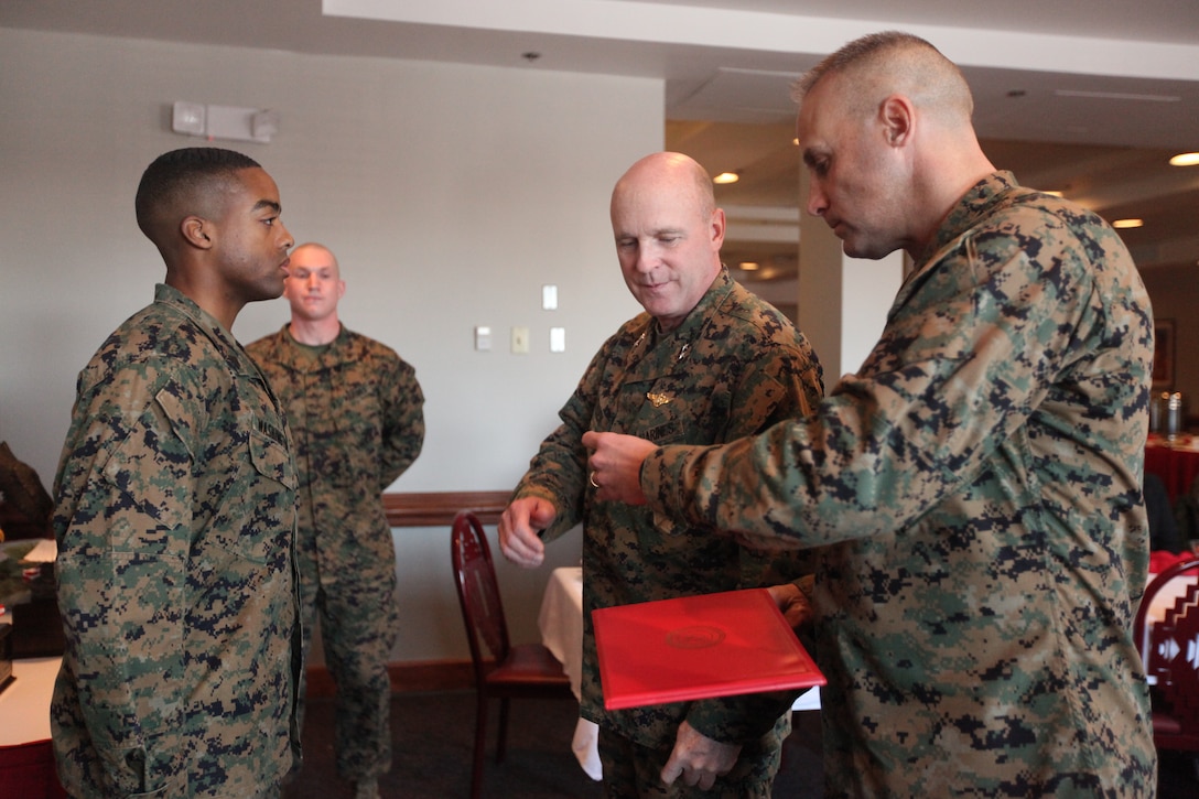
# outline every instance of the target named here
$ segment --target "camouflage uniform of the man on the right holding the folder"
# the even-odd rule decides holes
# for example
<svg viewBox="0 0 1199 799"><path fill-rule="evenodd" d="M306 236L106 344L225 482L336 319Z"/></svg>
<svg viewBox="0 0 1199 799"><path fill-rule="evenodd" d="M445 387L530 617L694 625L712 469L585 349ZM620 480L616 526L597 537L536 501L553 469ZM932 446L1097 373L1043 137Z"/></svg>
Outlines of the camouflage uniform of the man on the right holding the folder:
<svg viewBox="0 0 1199 799"><path fill-rule="evenodd" d="M1131 635L1152 352L1115 232L1000 172L815 417L645 461L651 507L831 545L831 795L1152 795Z"/></svg>

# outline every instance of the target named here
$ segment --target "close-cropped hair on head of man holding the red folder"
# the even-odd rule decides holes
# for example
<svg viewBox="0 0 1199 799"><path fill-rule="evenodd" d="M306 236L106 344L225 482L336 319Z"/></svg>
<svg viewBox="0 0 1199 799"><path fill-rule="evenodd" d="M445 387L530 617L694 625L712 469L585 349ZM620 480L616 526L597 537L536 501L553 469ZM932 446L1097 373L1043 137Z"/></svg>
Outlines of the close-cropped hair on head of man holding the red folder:
<svg viewBox="0 0 1199 799"><path fill-rule="evenodd" d="M818 84L830 84L843 109L874 114L890 95L903 95L930 118L970 126L974 97L962 71L918 36L900 31L870 34L845 44L796 82L801 106Z"/></svg>

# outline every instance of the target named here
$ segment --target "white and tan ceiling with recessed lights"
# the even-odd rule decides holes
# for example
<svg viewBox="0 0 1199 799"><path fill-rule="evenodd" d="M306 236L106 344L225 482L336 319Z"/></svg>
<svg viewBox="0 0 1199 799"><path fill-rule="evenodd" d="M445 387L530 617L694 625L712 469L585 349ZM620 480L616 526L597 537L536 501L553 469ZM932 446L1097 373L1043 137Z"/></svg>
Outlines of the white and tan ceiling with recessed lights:
<svg viewBox="0 0 1199 799"><path fill-rule="evenodd" d="M902 28L963 67L998 167L1143 218L1143 269L1199 263L1199 167L1167 163L1199 150L1195 0L4 0L0 26L661 78L668 149L741 175L725 257L759 277L796 263L791 82Z"/></svg>

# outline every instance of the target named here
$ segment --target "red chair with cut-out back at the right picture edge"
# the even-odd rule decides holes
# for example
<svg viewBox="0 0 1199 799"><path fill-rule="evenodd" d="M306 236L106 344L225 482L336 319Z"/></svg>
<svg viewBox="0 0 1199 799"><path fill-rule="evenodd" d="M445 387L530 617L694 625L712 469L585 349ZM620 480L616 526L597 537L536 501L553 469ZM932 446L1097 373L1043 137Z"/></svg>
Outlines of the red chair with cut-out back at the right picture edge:
<svg viewBox="0 0 1199 799"><path fill-rule="evenodd" d="M1153 680L1153 744L1158 750L1199 752L1199 581L1149 627L1153 596L1185 571L1199 566L1199 554L1165 569L1150 582L1137 609L1133 635L1145 673Z"/></svg>

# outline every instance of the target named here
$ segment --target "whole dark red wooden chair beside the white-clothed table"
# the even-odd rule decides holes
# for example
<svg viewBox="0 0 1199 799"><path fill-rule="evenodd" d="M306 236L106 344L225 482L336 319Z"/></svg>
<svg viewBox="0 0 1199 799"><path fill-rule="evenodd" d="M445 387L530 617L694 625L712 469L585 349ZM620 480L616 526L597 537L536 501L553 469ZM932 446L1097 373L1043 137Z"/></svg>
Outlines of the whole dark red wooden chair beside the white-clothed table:
<svg viewBox="0 0 1199 799"><path fill-rule="evenodd" d="M462 620L475 665L475 689L478 705L475 713L475 759L470 777L470 795L478 799L483 787L483 755L487 749L487 709L493 698L500 699L500 732L495 762L504 761L508 701L513 698L562 698L576 702L562 665L540 643L512 645L508 625L500 602L499 583L487 535L478 517L459 512L451 535L453 573L458 583ZM486 647L488 656L484 656ZM562 741L567 745L567 741Z"/></svg>

